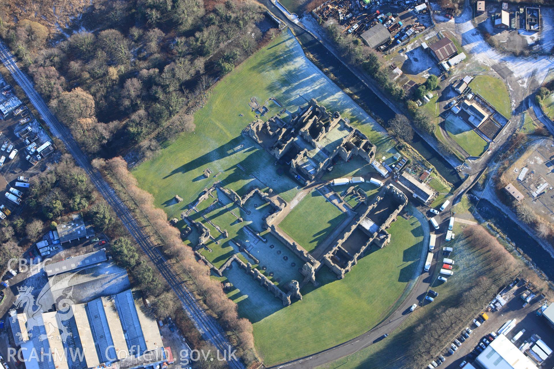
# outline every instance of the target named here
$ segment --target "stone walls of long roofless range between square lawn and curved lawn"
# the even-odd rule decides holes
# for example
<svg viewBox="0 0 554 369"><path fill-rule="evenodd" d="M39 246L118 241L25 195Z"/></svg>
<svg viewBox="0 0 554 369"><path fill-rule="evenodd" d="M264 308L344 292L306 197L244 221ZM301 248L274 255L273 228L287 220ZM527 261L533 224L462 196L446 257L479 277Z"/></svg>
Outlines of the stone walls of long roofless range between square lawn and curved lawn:
<svg viewBox="0 0 554 369"><path fill-rule="evenodd" d="M337 252L341 252L342 254L351 255L348 251L345 250L345 248L342 247L342 244L347 240L348 237L352 234L353 231L360 226L360 223L363 219L365 219L370 212L375 209L379 201L381 201L384 196L393 196L394 199L397 200L398 205L396 209L393 210L391 215L387 217L386 220L383 221L383 224L381 224L376 232L373 234L369 234L368 231L361 227L361 229L367 233L370 238L365 244L363 244L360 247L360 250L358 250L357 253L353 254L351 256L351 259L346 263L344 267L341 267L337 265L333 261L333 257L336 255ZM408 198L404 193L397 189L394 185L388 185L386 188L379 191L376 200L371 204L368 205L366 209L361 211L360 216L357 216L355 219L352 220L350 225L348 225L347 231L343 234L343 236L340 238L340 240L337 241L336 245L325 254L323 258L324 264L331 269L332 272L334 272L339 279L342 279L345 277L345 273L350 272L352 267L355 266L358 263L358 259L360 256L367 250L368 247L372 245L372 243L375 243L375 245L379 248L383 248L384 246L388 245L389 242L391 242L391 235L386 231L387 228L389 228L392 224L392 222L396 221L398 214L404 209L404 206L408 204Z"/></svg>

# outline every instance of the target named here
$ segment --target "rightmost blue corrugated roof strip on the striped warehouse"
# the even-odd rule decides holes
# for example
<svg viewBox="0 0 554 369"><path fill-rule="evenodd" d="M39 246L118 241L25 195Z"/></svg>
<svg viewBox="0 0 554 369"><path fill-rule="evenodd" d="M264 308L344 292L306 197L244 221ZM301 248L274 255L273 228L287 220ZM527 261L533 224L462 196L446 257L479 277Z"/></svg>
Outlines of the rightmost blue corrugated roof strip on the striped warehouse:
<svg viewBox="0 0 554 369"><path fill-rule="evenodd" d="M137 315L131 290L128 289L115 295L114 299L117 313L119 313L121 319L123 333L127 340L127 346L132 347L129 354L142 355L146 350L146 341L142 334L139 315Z"/></svg>

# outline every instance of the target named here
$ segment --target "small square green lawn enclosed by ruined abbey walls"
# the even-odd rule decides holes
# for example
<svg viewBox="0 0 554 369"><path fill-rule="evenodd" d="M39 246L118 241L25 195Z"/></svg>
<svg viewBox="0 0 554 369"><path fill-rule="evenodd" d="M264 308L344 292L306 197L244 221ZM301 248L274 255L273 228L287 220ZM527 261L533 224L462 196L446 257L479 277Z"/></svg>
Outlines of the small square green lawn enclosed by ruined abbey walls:
<svg viewBox="0 0 554 369"><path fill-rule="evenodd" d="M338 207L313 190L279 223L279 227L307 252L312 252L346 219Z"/></svg>

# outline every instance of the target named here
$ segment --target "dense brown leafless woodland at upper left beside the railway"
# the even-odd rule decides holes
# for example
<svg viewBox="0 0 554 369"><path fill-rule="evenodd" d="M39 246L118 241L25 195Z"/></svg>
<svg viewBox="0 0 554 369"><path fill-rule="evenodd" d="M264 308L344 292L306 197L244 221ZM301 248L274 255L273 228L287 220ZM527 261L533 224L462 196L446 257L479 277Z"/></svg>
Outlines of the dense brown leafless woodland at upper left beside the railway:
<svg viewBox="0 0 554 369"><path fill-rule="evenodd" d="M81 147L111 157L193 131L186 112L257 50L263 11L253 1L101 1L61 33L0 14L0 36Z"/></svg>

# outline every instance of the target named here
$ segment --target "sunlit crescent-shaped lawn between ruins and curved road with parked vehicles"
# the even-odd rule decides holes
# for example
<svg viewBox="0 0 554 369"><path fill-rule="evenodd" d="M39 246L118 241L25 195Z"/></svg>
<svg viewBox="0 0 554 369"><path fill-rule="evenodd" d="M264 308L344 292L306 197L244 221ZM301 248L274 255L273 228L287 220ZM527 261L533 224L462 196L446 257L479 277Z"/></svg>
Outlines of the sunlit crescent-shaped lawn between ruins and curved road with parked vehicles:
<svg viewBox="0 0 554 369"><path fill-rule="evenodd" d="M415 217L398 217L388 231L391 243L383 249L372 247L344 279L337 280L324 267L317 274L319 287L308 285L301 301L254 323L254 339L266 366L352 339L388 315L419 275L423 230ZM265 309L264 304L260 300L259 308Z"/></svg>

